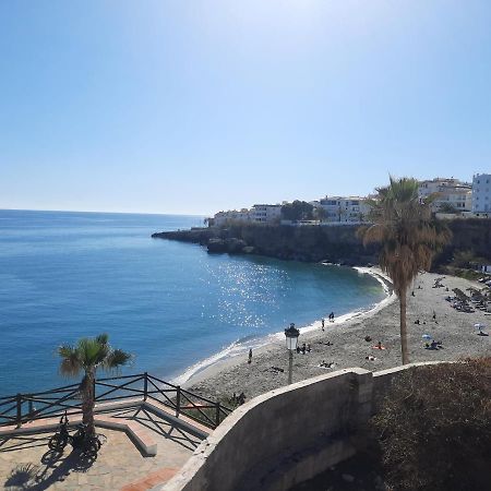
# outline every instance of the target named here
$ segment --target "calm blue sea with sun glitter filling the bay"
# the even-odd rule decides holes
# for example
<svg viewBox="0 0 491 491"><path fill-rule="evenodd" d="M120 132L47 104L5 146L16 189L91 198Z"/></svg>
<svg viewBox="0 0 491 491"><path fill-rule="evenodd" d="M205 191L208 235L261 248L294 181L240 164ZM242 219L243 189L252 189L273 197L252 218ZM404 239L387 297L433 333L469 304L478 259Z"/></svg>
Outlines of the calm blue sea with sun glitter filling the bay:
<svg viewBox="0 0 491 491"><path fill-rule="evenodd" d="M367 309L384 290L351 268L208 254L152 239L203 217L0 211L0 395L67 383L57 346L108 333L122 373L173 380L290 322ZM70 382L71 383L71 382Z"/></svg>

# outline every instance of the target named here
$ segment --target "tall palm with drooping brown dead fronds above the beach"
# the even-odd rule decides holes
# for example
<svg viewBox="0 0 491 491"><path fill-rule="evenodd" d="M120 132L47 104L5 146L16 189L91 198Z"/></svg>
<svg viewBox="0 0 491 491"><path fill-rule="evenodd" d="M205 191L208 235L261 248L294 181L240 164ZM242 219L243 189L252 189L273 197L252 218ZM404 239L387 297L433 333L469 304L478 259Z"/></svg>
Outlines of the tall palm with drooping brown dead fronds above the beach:
<svg viewBox="0 0 491 491"><path fill-rule="evenodd" d="M429 202L418 196L418 181L390 178L386 188L378 189L378 200L369 202L369 219L362 231L363 243L379 242L379 262L388 274L399 299L400 349L403 364L409 363L407 347L407 290L420 271L431 266L436 250L451 237L448 228L432 218Z"/></svg>

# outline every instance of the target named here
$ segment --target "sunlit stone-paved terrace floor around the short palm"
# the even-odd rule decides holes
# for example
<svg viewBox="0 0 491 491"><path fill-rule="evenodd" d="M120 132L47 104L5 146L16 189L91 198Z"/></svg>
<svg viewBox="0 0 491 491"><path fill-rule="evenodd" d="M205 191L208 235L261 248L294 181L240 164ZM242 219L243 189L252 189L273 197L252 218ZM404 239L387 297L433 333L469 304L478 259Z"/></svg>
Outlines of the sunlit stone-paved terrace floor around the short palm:
<svg viewBox="0 0 491 491"><path fill-rule="evenodd" d="M21 490L144 491L170 479L201 440L145 409L113 415L151 429L157 455L143 457L122 431L97 429L107 436L97 459L81 459L68 445L56 454L48 448L51 433L0 439L0 488Z"/></svg>

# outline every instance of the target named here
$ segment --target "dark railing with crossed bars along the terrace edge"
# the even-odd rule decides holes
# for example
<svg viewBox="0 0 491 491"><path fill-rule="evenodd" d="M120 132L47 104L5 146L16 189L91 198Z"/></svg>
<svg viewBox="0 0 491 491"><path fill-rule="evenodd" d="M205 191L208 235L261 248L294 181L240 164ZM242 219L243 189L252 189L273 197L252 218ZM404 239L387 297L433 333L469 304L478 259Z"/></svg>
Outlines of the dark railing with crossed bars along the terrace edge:
<svg viewBox="0 0 491 491"><path fill-rule="evenodd" d="M179 385L165 382L147 372L136 375L97 379L94 383L95 411L104 411L100 403L132 399L154 402L170 408L176 417L183 415L207 428L215 429L231 409ZM64 385L45 392L0 397L0 427L20 428L28 421L82 412L80 384ZM110 407L107 408L110 410Z"/></svg>

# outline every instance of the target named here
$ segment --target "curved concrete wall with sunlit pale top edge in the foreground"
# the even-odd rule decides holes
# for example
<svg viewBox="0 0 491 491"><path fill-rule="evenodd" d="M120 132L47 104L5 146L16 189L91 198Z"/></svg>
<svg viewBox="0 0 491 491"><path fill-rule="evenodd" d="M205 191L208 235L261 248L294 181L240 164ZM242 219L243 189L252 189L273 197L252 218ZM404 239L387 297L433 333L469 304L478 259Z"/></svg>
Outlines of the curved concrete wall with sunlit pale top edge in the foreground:
<svg viewBox="0 0 491 491"><path fill-rule="evenodd" d="M236 409L161 490L289 489L356 454L358 432L412 363L354 368L271 391Z"/></svg>

